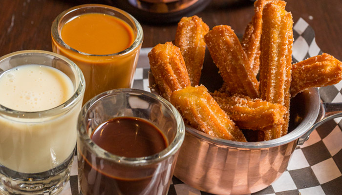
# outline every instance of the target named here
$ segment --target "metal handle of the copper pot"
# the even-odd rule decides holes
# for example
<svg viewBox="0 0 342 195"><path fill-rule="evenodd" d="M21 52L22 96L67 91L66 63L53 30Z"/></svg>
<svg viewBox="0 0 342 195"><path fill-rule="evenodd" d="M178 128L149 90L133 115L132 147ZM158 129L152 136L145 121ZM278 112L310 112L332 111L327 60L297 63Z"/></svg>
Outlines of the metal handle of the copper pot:
<svg viewBox="0 0 342 195"><path fill-rule="evenodd" d="M320 113L314 125L302 137L299 137L298 145L309 139L311 132L324 122L342 116L342 103L321 103Z"/></svg>

